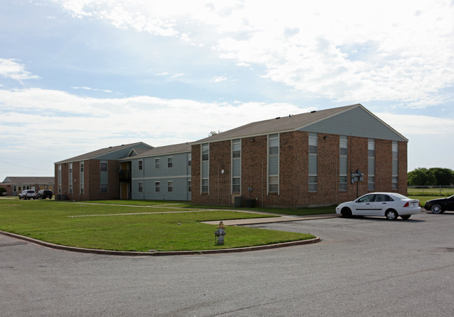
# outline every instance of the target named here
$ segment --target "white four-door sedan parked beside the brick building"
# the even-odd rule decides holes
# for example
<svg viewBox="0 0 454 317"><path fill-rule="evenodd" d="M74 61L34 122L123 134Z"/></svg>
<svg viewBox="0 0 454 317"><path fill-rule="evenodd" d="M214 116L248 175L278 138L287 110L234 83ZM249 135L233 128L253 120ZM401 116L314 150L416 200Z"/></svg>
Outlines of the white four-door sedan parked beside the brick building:
<svg viewBox="0 0 454 317"><path fill-rule="evenodd" d="M367 193L357 200L343 202L336 207L336 214L351 216L385 216L396 220L398 216L409 219L412 214L419 214L419 200L411 199L399 193Z"/></svg>

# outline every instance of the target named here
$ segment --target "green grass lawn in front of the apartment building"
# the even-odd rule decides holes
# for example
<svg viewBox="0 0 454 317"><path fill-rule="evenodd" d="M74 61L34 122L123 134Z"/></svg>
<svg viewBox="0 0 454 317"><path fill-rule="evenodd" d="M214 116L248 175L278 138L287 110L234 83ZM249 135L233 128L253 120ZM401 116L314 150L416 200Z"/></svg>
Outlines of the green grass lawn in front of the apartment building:
<svg viewBox="0 0 454 317"><path fill-rule="evenodd" d="M66 246L118 251L224 249L313 238L303 233L229 226L225 244L216 246L216 226L201 221L269 215L227 210L183 213L194 209L187 204L171 208L169 202L137 205L152 207L1 199L0 230Z"/></svg>

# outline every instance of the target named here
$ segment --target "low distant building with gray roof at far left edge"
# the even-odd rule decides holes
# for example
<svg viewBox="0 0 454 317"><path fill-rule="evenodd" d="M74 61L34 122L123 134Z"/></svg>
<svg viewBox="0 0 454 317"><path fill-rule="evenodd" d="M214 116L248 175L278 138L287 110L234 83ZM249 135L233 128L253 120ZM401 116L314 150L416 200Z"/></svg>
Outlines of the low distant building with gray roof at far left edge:
<svg viewBox="0 0 454 317"><path fill-rule="evenodd" d="M54 191L54 177L6 177L0 187L6 189L7 196L17 196L24 189L50 189Z"/></svg>

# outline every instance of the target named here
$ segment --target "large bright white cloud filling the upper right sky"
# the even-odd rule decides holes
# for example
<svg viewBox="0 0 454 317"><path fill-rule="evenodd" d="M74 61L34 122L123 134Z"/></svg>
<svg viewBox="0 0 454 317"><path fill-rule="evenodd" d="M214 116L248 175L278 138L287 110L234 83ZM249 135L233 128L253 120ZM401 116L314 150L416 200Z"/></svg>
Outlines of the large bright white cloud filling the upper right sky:
<svg viewBox="0 0 454 317"><path fill-rule="evenodd" d="M452 1L55 0L78 17L215 46L237 65L335 101L446 102Z"/></svg>

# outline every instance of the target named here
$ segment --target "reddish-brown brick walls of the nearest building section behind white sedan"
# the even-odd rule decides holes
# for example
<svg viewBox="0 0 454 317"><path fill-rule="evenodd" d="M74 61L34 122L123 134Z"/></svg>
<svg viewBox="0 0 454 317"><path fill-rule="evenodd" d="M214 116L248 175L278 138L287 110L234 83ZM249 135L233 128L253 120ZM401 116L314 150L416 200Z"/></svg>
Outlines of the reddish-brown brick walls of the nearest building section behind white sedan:
<svg viewBox="0 0 454 317"><path fill-rule="evenodd" d="M347 191L339 191L339 135L318 133L318 191L308 192L308 133L280 134L279 194L267 194L267 135L241 141L241 193L257 206L336 204L367 193L368 139L348 137ZM392 141L376 140L376 189L391 191ZM210 189L200 193L200 145L192 146L192 203L233 205L231 196L231 142L210 144ZM399 142L399 193L406 194L406 142ZM224 170L224 174L218 172ZM364 173L350 183L350 173ZM252 191L248 191L252 188ZM236 193L234 193L236 196Z"/></svg>

